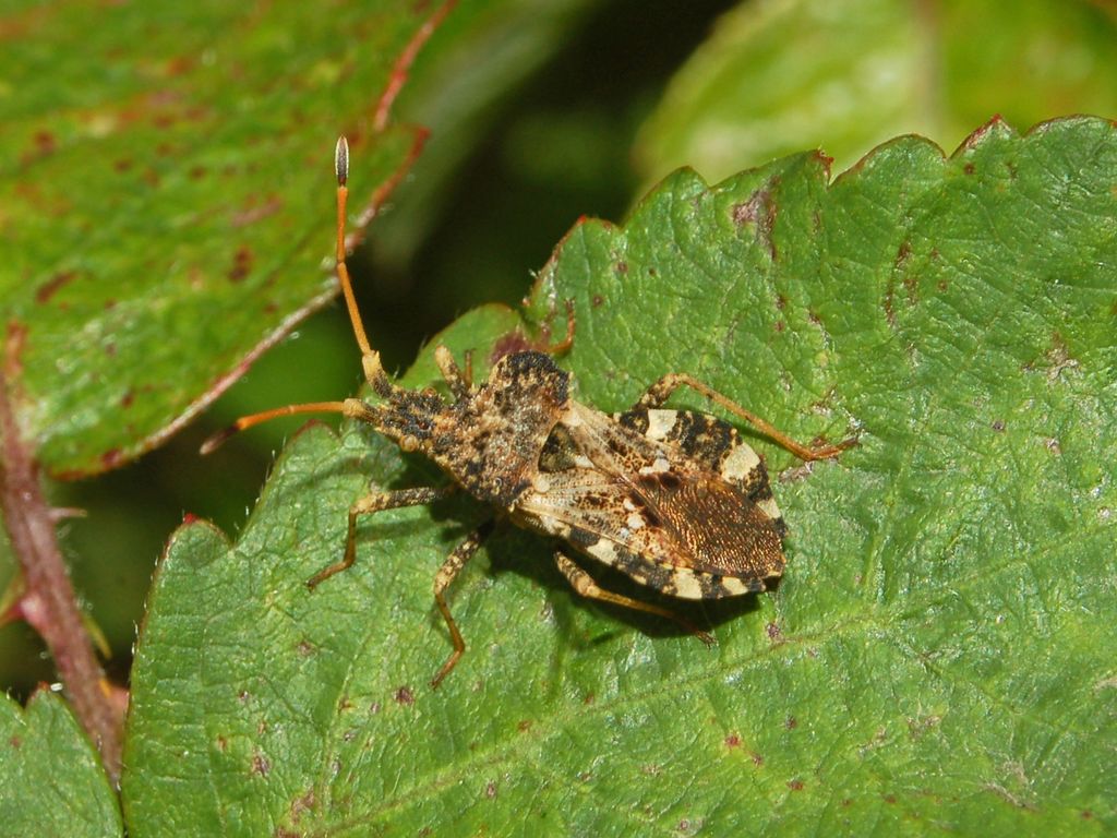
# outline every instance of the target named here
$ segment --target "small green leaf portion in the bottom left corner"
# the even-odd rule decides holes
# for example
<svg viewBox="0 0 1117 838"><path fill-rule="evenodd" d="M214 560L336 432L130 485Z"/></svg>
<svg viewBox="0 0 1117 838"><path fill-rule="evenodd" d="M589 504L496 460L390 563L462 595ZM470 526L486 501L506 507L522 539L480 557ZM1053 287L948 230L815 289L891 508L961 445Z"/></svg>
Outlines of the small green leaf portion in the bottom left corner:
<svg viewBox="0 0 1117 838"><path fill-rule="evenodd" d="M124 835L96 750L47 691L26 708L0 698L0 823L4 835Z"/></svg>

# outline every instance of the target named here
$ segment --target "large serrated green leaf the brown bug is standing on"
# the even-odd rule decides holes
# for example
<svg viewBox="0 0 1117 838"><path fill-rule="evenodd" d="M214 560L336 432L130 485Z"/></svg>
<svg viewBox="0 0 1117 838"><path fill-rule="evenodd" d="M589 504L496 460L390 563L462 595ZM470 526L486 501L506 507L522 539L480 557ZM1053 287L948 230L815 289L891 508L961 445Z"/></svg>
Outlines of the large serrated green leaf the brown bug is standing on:
<svg viewBox="0 0 1117 838"><path fill-rule="evenodd" d="M364 520L357 564L311 592L367 479L438 479L312 426L235 545L193 524L161 563L130 832L1117 827L1114 171L1108 122L994 122L832 182L814 153L716 187L681 171L622 228L577 226L528 320L574 301L579 399L619 409L680 370L800 439L859 429L813 468L756 440L791 527L777 589L674 606L707 650L577 599L552 545L508 531L450 591L468 648L431 691L431 580L489 513ZM480 366L513 323L475 317L448 342Z"/></svg>

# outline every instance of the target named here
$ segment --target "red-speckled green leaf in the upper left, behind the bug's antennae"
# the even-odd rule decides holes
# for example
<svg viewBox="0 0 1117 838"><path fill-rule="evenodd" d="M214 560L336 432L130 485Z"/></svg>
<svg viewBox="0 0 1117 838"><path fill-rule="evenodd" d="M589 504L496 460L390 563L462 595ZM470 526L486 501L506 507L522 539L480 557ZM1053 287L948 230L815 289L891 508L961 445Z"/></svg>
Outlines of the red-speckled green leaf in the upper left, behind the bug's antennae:
<svg viewBox="0 0 1117 838"><path fill-rule="evenodd" d="M51 472L156 445L334 295L334 141L356 215L418 151L373 117L438 9L7 6L0 315Z"/></svg>

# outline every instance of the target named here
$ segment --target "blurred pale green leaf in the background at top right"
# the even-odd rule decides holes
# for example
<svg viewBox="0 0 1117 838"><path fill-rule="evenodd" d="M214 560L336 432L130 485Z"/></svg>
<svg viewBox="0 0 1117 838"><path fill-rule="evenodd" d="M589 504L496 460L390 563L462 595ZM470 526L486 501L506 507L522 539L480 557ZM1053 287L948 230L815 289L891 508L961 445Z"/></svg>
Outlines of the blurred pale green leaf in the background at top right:
<svg viewBox="0 0 1117 838"><path fill-rule="evenodd" d="M1117 114L1117 26L1087 0L742 2L679 70L637 144L643 177L719 179L818 143L839 168L890 136L944 147L1001 114Z"/></svg>

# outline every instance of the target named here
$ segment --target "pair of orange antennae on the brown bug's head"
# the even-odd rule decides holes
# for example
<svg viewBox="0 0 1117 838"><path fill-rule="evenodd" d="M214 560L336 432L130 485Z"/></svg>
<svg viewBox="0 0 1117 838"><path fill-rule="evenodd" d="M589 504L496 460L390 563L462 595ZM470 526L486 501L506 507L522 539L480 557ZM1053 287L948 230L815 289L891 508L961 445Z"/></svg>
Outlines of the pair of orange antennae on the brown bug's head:
<svg viewBox="0 0 1117 838"><path fill-rule="evenodd" d="M380 361L380 353L369 344L369 337L364 331L364 323L361 321L361 312L356 307L356 297L353 294L353 283L350 279L349 267L345 264L345 204L349 199L349 142L344 136L337 139L337 146L334 150L334 171L337 175L337 282L342 286L342 295L345 297L345 308L349 311L350 322L353 324L353 335L356 337L357 346L361 347L361 365L364 368L364 377L381 398L390 398L397 387L388 378L384 366ZM202 454L211 454L217 450L225 440L239 431L251 428L269 419L280 416L293 416L295 413L342 413L354 419L363 419L375 423L378 413L360 399L345 399L344 401L315 401L307 404L286 404L281 408L273 408L251 416L242 416L228 428L223 428L210 436L201 446Z"/></svg>

